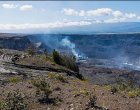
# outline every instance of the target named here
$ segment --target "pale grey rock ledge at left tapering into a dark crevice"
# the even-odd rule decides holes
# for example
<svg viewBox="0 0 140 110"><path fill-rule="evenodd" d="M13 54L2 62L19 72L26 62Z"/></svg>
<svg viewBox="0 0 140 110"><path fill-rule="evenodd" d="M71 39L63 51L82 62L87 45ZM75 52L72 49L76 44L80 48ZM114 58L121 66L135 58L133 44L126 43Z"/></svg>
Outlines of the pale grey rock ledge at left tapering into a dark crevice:
<svg viewBox="0 0 140 110"><path fill-rule="evenodd" d="M79 79L83 78L81 74L65 68L62 69L62 68L55 68L50 66L43 67L43 66L34 66L34 65L23 65L23 64L14 63L12 61L12 58L15 55L22 57L24 54L25 53L22 51L9 50L9 49L0 50L0 73L6 73L6 74L22 73L27 75L27 73L31 71L31 73L29 73L29 75L31 75L33 71L34 71L33 73L56 72L56 73L63 73L66 75L74 76Z"/></svg>

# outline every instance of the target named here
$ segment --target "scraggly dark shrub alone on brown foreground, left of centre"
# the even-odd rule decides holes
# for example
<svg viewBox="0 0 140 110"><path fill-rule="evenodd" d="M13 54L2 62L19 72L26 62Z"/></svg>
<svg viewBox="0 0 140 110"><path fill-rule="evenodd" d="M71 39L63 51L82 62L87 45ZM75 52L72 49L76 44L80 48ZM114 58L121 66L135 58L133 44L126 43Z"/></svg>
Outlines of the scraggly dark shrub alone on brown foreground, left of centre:
<svg viewBox="0 0 140 110"><path fill-rule="evenodd" d="M50 85L45 81L44 78L37 78L32 80L32 84L37 88L37 95L44 95L44 100L49 101L49 95L52 93Z"/></svg>

